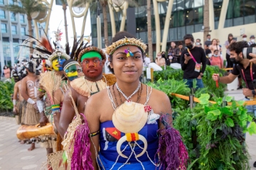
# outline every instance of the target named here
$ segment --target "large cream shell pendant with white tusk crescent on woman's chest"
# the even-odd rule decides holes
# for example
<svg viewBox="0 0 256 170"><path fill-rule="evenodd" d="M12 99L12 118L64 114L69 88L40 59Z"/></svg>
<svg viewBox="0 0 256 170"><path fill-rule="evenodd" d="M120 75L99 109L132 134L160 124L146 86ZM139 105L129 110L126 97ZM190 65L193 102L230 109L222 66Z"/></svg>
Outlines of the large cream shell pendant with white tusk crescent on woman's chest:
<svg viewBox="0 0 256 170"><path fill-rule="evenodd" d="M144 142L144 149L142 153L137 154L136 157L141 157L147 148L146 138L139 135L139 130L142 130L148 119L148 114L144 109L144 105L132 101L125 101L119 106L112 115L112 122L114 127L125 135L117 142L117 153L124 158L127 158L121 151L121 145L127 142L136 142L142 140Z"/></svg>

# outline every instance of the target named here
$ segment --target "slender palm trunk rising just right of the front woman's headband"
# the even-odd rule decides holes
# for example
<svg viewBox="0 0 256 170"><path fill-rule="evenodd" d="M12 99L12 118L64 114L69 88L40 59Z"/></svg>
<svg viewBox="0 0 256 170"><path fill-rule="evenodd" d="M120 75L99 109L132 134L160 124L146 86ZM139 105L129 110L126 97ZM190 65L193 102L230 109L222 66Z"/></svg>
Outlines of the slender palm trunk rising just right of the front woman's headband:
<svg viewBox="0 0 256 170"><path fill-rule="evenodd" d="M152 33L151 33L151 0L146 0L146 13L147 13L147 29L148 29L148 47L149 58L153 61L153 45L152 45Z"/></svg>

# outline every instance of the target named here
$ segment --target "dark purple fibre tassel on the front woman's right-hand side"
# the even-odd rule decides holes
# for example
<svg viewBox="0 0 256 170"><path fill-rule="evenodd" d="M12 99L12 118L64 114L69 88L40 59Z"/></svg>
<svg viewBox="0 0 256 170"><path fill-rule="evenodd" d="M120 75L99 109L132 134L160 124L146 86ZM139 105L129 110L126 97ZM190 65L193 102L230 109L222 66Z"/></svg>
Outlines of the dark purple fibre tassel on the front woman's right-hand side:
<svg viewBox="0 0 256 170"><path fill-rule="evenodd" d="M156 155L159 155L159 169L186 169L188 151L178 130L171 128L171 125L169 125L169 116L169 114L161 115L160 120L164 129L157 131L159 134L159 148Z"/></svg>

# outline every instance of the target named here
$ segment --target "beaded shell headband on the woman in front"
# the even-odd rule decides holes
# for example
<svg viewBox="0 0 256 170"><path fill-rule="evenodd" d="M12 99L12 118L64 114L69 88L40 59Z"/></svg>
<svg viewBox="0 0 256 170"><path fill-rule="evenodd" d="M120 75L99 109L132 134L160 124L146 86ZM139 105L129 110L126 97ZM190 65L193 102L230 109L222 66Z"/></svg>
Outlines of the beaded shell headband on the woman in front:
<svg viewBox="0 0 256 170"><path fill-rule="evenodd" d="M122 38L121 40L118 40L117 42L113 42L112 45L106 47L107 55L112 55L117 48L122 47L124 45L134 45L136 47L139 47L142 52L145 52L146 45L142 40L138 40L136 38Z"/></svg>

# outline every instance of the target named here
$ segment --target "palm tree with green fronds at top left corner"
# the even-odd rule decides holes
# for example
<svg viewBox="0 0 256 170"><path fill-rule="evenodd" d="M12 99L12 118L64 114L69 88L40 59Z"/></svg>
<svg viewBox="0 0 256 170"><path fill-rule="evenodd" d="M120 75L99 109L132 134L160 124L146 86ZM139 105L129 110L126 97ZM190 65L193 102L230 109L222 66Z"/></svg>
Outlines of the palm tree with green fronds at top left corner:
<svg viewBox="0 0 256 170"><path fill-rule="evenodd" d="M18 5L18 1L16 4L13 5L6 5L6 10L12 11L14 13L26 13L27 20L28 20L28 35L31 37L33 36L33 30L32 30L32 17L31 14L34 12L41 12L47 10L47 7L45 4L43 4L41 0L19 0L21 2L21 5ZM31 44L32 46L32 44ZM31 54L33 53L33 49L30 49Z"/></svg>

